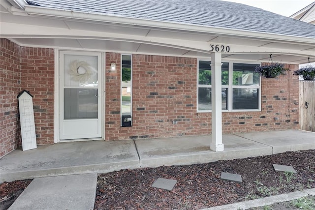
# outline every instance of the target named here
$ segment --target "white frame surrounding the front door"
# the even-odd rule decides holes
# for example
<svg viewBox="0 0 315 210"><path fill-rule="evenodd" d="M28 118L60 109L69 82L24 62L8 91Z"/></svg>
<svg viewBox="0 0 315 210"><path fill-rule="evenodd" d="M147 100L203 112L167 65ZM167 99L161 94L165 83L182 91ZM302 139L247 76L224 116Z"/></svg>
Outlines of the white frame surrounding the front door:
<svg viewBox="0 0 315 210"><path fill-rule="evenodd" d="M101 137L100 138L92 138L92 139L73 139L73 140L60 140L60 76L61 76L61 68L60 68L60 52L61 51L68 51L71 52L71 50L63 50L63 49L55 49L55 83L54 83L54 143L59 143L59 142L73 142L73 141L87 141L87 140L104 140L105 139L105 128L104 128L104 121L105 121L105 79L104 79L104 72L105 72L105 60L104 60L104 56L105 56L105 52L98 52L101 54L100 56L100 70L99 70L99 74L100 74L100 91L98 92L98 94L100 95L100 104L101 104L101 108L100 108L100 127L101 127ZM88 53L88 52L92 52L92 51L82 51L82 50L75 50L72 51L74 54L76 53ZM95 52L94 52L95 53Z"/></svg>

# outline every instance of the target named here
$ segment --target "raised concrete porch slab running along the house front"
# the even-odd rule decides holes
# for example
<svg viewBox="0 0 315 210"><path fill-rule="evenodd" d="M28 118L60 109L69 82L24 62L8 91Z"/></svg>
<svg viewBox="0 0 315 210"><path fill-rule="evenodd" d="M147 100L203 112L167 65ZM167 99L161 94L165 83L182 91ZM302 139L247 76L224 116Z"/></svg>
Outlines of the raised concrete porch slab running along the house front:
<svg viewBox="0 0 315 210"><path fill-rule="evenodd" d="M126 141L82 141L14 150L0 159L0 181L107 173L121 169L189 165L285 151L315 150L315 133L284 130L223 134L224 151L210 150L211 136Z"/></svg>

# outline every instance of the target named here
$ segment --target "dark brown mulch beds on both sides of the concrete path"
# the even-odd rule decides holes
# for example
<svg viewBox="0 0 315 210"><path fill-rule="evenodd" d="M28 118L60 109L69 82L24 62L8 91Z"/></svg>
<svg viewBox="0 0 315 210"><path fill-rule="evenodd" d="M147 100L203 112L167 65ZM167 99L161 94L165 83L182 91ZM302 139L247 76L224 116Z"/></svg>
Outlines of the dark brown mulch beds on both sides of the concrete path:
<svg viewBox="0 0 315 210"><path fill-rule="evenodd" d="M275 172L272 164L293 166L297 173ZM239 174L243 182L221 180L221 172ZM171 191L152 187L158 178L177 183ZM1 183L0 209L31 181ZM198 210L308 188L315 188L315 150L99 174L95 210Z"/></svg>

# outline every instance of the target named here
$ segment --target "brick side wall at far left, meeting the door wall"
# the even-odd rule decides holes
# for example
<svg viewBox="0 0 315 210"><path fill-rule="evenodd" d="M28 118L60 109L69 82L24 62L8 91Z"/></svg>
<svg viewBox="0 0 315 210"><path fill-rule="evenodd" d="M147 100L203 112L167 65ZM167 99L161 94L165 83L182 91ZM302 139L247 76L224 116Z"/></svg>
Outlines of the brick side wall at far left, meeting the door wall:
<svg viewBox="0 0 315 210"><path fill-rule="evenodd" d="M20 92L20 47L0 39L0 157L17 148L20 126L17 95Z"/></svg>

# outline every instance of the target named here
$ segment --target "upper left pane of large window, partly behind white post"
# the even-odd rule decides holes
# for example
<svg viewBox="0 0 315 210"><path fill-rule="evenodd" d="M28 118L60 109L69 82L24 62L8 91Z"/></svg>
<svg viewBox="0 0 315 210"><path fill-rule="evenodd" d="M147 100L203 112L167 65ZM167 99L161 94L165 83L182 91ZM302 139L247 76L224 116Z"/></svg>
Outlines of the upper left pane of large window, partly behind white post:
<svg viewBox="0 0 315 210"><path fill-rule="evenodd" d="M211 61L199 60L199 85L211 85ZM222 85L228 85L228 63L221 67Z"/></svg>

